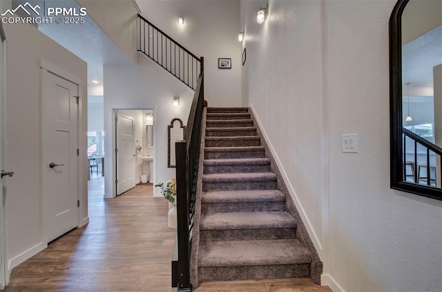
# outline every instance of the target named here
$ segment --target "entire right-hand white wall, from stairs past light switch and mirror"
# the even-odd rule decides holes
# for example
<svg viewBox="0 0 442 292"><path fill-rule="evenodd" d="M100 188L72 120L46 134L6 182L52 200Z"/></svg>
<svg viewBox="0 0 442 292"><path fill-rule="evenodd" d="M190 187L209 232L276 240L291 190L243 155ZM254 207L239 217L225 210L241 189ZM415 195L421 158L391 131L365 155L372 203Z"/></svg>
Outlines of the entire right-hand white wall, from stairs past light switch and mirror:
<svg viewBox="0 0 442 292"><path fill-rule="evenodd" d="M258 27L267 2L241 1L243 92L317 236L323 284L334 291L442 286L441 202L390 189L395 2L269 1ZM353 133L358 153L344 154L342 135Z"/></svg>

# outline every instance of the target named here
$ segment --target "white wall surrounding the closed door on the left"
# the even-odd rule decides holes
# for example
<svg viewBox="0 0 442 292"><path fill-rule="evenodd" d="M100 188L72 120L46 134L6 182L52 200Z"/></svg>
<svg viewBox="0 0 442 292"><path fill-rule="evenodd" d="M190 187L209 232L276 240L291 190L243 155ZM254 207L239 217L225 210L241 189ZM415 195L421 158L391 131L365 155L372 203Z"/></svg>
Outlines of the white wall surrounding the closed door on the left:
<svg viewBox="0 0 442 292"><path fill-rule="evenodd" d="M41 226L41 78L39 60L44 59L66 72L78 76L86 85L86 63L52 41L31 25L8 25L6 75L6 149L5 168L15 171L8 178L8 258L15 267L46 247ZM87 93L83 88L83 129L80 161L87 169L86 125ZM83 171L80 221L86 222L87 171Z"/></svg>

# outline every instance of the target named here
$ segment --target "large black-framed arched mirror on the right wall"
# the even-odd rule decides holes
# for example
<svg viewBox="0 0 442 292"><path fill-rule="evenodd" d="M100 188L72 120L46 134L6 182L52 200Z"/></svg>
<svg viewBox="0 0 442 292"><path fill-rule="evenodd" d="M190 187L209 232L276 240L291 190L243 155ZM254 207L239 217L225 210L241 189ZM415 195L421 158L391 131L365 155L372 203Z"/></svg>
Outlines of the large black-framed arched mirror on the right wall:
<svg viewBox="0 0 442 292"><path fill-rule="evenodd" d="M442 1L398 0L389 30L390 185L442 200Z"/></svg>

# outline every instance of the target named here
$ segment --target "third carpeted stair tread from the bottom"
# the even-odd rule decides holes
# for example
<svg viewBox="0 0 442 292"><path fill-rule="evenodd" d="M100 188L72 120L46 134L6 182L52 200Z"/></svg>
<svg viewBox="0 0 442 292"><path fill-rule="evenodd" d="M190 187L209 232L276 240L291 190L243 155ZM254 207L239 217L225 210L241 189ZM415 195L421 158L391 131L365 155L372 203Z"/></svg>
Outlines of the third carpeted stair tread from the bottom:
<svg viewBox="0 0 442 292"><path fill-rule="evenodd" d="M202 204L227 202L284 202L285 195L278 189L256 189L242 191L204 191Z"/></svg>

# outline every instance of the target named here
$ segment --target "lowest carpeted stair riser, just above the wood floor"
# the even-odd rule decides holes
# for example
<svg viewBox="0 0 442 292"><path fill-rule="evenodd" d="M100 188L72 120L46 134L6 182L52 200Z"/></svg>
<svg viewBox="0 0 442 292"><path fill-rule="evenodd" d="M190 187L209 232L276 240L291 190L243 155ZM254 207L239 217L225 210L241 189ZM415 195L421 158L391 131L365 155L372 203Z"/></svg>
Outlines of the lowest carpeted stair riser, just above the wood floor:
<svg viewBox="0 0 442 292"><path fill-rule="evenodd" d="M245 267L199 267L201 282L309 278L310 264L282 264Z"/></svg>

